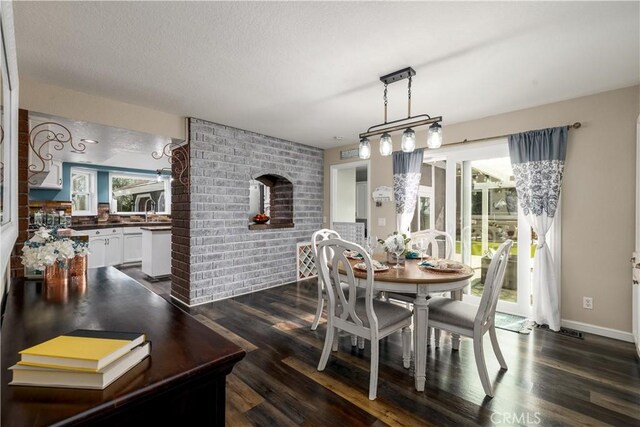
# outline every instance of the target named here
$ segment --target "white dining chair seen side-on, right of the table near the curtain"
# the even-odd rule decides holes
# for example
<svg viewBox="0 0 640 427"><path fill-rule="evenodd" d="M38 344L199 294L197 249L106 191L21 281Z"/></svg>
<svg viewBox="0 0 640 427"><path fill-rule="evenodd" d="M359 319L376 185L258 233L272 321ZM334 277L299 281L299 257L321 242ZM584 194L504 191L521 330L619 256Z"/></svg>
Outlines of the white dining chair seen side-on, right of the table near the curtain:
<svg viewBox="0 0 640 427"><path fill-rule="evenodd" d="M489 382L487 365L484 360L482 337L489 332L493 352L502 369L506 370L507 363L498 345L495 315L512 245L513 241L506 240L494 253L484 282L484 292L477 307L450 298L433 297L429 299L430 327L473 338L473 353L478 374L480 374L480 382L485 394L490 397L493 397L493 389Z"/></svg>

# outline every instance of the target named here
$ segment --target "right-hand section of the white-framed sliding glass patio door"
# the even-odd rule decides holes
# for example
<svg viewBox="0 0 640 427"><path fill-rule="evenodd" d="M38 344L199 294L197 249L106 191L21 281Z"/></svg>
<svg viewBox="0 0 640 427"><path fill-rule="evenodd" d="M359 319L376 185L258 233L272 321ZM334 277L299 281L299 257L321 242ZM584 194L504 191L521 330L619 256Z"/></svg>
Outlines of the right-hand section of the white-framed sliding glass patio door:
<svg viewBox="0 0 640 427"><path fill-rule="evenodd" d="M532 230L518 206L506 139L464 150L438 150L446 162L446 224L454 258L473 267L463 300L478 304L495 250L514 241L498 310L528 316L531 309ZM427 159L429 161L429 159Z"/></svg>

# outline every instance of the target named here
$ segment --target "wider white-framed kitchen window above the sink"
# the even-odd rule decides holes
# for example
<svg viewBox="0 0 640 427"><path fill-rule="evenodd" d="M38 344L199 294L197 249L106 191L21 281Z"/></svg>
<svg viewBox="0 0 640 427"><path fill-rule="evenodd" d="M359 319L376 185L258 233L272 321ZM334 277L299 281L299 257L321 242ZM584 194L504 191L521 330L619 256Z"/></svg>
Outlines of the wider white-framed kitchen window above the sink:
<svg viewBox="0 0 640 427"><path fill-rule="evenodd" d="M111 212L116 214L171 213L169 176L109 174Z"/></svg>

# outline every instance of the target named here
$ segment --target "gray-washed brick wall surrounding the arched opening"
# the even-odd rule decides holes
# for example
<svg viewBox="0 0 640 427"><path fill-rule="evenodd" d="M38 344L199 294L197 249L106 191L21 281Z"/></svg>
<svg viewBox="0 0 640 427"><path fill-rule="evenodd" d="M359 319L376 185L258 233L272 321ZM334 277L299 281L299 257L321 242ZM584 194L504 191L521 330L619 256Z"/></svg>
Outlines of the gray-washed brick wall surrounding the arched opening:
<svg viewBox="0 0 640 427"><path fill-rule="evenodd" d="M174 260L172 295L194 305L295 281L296 244L322 224L323 150L198 119L188 134L189 281ZM265 174L292 183L293 228L249 230L249 181Z"/></svg>

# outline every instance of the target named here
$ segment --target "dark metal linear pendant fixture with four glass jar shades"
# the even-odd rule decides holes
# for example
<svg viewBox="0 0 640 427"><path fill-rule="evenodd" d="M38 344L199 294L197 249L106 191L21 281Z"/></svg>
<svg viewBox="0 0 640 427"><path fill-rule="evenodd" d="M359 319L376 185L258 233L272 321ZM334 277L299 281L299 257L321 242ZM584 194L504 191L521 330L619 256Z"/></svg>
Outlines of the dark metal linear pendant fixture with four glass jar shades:
<svg viewBox="0 0 640 427"><path fill-rule="evenodd" d="M391 133L403 130L402 133L402 151L410 153L416 148L416 132L413 128L431 125L427 132L427 147L438 148L442 145L442 126L440 122L442 117L431 117L428 114L411 115L411 83L416 72L413 68L407 67L402 70L394 71L391 74L380 77L380 81L384 83L384 123L371 126L366 132L360 134L360 146L358 154L361 159L368 159L371 156L370 136L381 135L380 137L380 155L390 156L393 152L393 142ZM387 121L387 86L400 80L408 79L407 87L407 117L404 119Z"/></svg>

